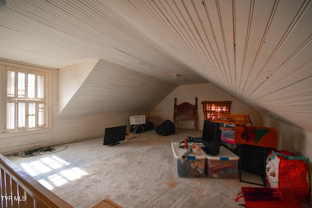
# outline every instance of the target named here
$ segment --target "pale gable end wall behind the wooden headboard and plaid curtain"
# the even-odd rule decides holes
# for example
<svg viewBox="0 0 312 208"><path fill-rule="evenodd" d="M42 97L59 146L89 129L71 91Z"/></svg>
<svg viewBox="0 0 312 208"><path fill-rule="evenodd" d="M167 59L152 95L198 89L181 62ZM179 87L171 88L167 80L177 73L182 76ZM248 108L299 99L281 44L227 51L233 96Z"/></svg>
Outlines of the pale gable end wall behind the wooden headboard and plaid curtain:
<svg viewBox="0 0 312 208"><path fill-rule="evenodd" d="M197 100L197 129L202 130L204 125L204 116L202 101L226 101L232 100L233 114L249 114L254 126L261 125L261 115L246 106L232 95L227 94L212 83L180 85L173 92L171 92L165 99L163 99L152 111L151 116L159 116L162 120L169 119L173 121L175 97L177 98L177 105L182 102L189 102L195 104L195 97ZM177 128L193 129L193 122L178 121Z"/></svg>

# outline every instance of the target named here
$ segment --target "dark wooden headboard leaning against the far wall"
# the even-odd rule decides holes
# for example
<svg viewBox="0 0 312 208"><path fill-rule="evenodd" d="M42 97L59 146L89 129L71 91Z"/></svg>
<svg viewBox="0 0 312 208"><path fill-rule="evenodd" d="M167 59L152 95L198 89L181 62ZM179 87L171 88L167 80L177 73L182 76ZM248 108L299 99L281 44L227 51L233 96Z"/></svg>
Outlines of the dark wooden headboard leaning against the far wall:
<svg viewBox="0 0 312 208"><path fill-rule="evenodd" d="M176 121L194 121L194 131L197 129L197 97L195 97L195 105L191 105L188 102L183 102L180 105L176 105L175 98L175 112L174 112L174 124Z"/></svg>

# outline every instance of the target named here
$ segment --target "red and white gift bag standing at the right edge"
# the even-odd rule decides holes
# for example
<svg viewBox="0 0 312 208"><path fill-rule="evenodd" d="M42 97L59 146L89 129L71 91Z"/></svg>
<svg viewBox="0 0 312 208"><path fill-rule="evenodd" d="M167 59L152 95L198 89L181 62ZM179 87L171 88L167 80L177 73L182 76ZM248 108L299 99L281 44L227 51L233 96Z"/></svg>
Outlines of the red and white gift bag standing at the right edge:
<svg viewBox="0 0 312 208"><path fill-rule="evenodd" d="M309 173L303 156L289 151L271 151L266 161L266 177L271 188L291 192L301 203L308 203Z"/></svg>

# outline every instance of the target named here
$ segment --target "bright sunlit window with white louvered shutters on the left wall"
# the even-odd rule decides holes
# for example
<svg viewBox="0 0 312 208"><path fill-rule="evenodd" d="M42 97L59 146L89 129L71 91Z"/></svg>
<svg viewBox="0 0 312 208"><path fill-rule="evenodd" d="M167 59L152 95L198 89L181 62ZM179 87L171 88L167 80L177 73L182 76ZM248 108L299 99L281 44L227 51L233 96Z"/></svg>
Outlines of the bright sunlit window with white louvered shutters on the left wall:
<svg viewBox="0 0 312 208"><path fill-rule="evenodd" d="M4 66L2 132L46 129L50 122L47 86L50 71ZM4 79L4 80L3 80ZM3 85L2 85L3 86ZM3 91L2 91L3 92Z"/></svg>

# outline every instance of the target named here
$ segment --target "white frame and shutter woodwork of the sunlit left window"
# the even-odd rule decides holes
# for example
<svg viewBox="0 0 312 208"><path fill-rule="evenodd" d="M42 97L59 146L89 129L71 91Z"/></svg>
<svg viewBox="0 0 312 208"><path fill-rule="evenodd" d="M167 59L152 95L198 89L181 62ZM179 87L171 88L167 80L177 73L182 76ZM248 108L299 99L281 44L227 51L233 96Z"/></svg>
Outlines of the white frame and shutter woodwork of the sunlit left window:
<svg viewBox="0 0 312 208"><path fill-rule="evenodd" d="M33 98L29 98L27 97L27 92L25 92L25 96L24 97L18 97L17 95L17 89L15 89L15 97L8 97L6 96L7 90L6 90L6 71L15 71L16 76L17 73L21 72L21 73L26 73L26 76L28 74L34 74L35 75L35 79L38 78L38 76L44 76L44 97L40 98L39 92L37 92L38 90L38 81L36 81L35 84L35 97ZM24 134L28 134L28 133L41 133L41 132L51 132L51 120L52 120L52 104L51 104L51 93L52 93L52 71L51 70L47 70L47 69L40 69L40 68L35 68L35 67L30 67L30 66L23 66L23 65L19 65L19 64L13 64L13 63L7 63L7 62L2 62L0 61L0 138L1 137L6 137L8 136L8 134L17 134L17 135L24 135ZM15 86L17 86L17 83L15 83ZM25 84L25 91L27 91L27 84ZM17 88L17 87L16 87ZM41 91L42 92L42 91ZM33 95L33 94L32 94ZM15 105L18 105L19 103L24 104L25 106L25 117L23 119L23 123L25 124L25 126L20 126L18 127L18 117L15 117L15 127L14 129L7 129L6 128L6 105L8 102L14 102ZM35 126L31 127L31 125L28 125L28 120L30 119L30 114L28 114L29 112L27 112L28 110L28 106L31 105L32 103L35 104L35 116L33 116L33 118L35 119ZM41 115L41 117L39 118L40 115L40 109L38 108L40 105L42 107L42 104L44 105L44 114ZM27 106L28 105L28 106ZM18 113L17 110L18 108L16 107L16 112ZM28 119L29 118L29 119ZM43 118L43 125L39 125L39 121L42 121ZM39 119L39 120L38 120Z"/></svg>

